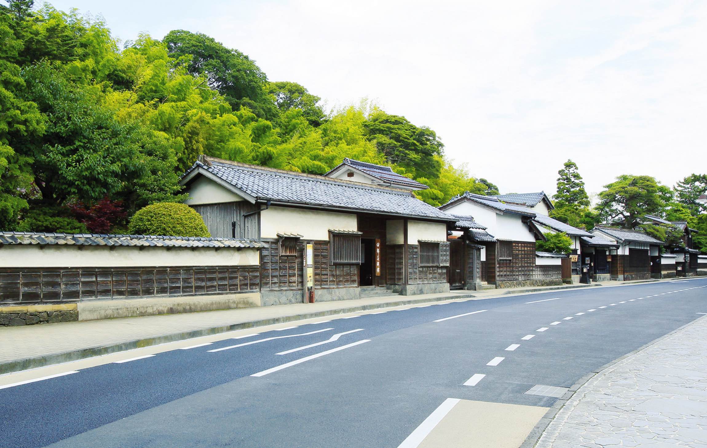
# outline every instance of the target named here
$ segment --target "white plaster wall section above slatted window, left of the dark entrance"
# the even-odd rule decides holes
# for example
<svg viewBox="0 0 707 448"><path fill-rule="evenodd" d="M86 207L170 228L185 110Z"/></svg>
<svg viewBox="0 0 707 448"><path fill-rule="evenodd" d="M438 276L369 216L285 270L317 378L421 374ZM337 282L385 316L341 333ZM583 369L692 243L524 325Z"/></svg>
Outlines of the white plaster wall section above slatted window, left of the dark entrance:
<svg viewBox="0 0 707 448"><path fill-rule="evenodd" d="M309 240L329 240L329 229L356 231L356 214L290 207L270 207L260 212L262 238L298 234Z"/></svg>

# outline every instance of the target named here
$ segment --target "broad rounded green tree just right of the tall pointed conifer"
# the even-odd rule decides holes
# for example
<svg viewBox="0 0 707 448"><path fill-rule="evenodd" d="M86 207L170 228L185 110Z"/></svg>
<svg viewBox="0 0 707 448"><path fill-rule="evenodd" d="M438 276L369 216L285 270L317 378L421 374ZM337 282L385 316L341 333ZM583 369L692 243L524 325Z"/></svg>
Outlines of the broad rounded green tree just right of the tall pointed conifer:
<svg viewBox="0 0 707 448"><path fill-rule="evenodd" d="M597 211L605 222L636 229L643 215L662 216L670 196L670 188L660 185L651 176L622 174L599 193Z"/></svg>

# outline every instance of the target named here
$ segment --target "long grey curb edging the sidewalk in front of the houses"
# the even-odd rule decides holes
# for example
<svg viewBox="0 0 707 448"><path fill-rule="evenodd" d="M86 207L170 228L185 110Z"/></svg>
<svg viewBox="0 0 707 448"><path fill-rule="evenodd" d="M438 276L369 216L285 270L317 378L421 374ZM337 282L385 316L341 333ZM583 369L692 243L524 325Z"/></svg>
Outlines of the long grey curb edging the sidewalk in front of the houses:
<svg viewBox="0 0 707 448"><path fill-rule="evenodd" d="M125 341L118 344L110 344L105 346L88 347L87 349L78 349L66 351L64 353L53 353L47 356L37 356L35 358L25 358L7 363L0 363L0 375L5 373L17 372L19 370L28 370L33 368L44 367L45 365L67 363L83 358L91 358L93 356L107 355L119 351L142 349L148 346L165 344L168 342L182 341L184 339L192 339L195 337L209 336L211 334L219 334L232 332L238 329L247 329L252 327L262 327L264 325L274 325L284 322L293 322L296 320L311 319L313 317L325 317L338 314L354 313L356 311L375 310L378 308L392 308L400 305L414 305L417 303L442 302L452 301L460 298L472 298L472 294L467 293L452 293L447 296L427 297L427 298L410 298L407 300L399 300L385 303L371 303L369 305L358 305L347 308L337 308L334 310L316 311L312 313L294 314L288 316L272 317L269 319L250 320L247 322L238 322L230 325L219 325L218 327L207 327L191 330L189 332L179 332L173 334L163 334L157 337L136 339L134 341Z"/></svg>

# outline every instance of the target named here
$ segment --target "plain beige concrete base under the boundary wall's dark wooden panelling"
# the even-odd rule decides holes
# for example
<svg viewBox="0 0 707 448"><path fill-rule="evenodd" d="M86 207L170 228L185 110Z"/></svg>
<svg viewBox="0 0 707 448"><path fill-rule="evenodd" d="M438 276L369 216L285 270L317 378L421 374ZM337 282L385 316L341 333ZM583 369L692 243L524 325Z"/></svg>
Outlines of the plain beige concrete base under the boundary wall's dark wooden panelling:
<svg viewBox="0 0 707 448"><path fill-rule="evenodd" d="M260 293L218 294L213 296L180 296L131 298L126 300L83 301L78 304L78 320L113 319L116 317L194 313L196 311L231 310L260 305Z"/></svg>

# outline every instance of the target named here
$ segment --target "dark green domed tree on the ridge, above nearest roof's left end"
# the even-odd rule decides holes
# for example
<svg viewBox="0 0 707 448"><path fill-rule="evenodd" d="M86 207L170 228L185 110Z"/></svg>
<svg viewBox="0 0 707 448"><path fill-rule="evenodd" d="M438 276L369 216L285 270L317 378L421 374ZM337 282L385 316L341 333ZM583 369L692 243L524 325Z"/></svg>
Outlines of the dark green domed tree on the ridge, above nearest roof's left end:
<svg viewBox="0 0 707 448"><path fill-rule="evenodd" d="M273 98L266 91L267 76L248 56L199 32L173 30L163 42L171 57L185 61L188 73L206 75L209 87L234 110L247 107L260 118L276 118Z"/></svg>

